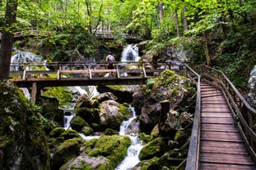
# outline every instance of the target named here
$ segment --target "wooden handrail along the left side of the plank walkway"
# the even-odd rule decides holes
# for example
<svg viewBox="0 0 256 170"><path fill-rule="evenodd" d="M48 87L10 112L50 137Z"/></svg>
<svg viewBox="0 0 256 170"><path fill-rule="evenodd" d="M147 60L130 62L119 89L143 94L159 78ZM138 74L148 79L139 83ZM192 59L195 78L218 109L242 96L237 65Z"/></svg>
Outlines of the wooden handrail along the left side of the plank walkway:
<svg viewBox="0 0 256 170"><path fill-rule="evenodd" d="M197 100L196 100L196 108L193 118L193 131L190 136L190 142L189 142L189 154L187 158L186 163L186 170L194 170L198 169L198 161L199 161L199 145L200 145L200 122L201 122L201 87L200 87L200 81L201 76L198 75L195 71L193 71L192 68L190 68L188 65L185 65L187 67L187 74L188 76L196 76L197 81Z"/></svg>

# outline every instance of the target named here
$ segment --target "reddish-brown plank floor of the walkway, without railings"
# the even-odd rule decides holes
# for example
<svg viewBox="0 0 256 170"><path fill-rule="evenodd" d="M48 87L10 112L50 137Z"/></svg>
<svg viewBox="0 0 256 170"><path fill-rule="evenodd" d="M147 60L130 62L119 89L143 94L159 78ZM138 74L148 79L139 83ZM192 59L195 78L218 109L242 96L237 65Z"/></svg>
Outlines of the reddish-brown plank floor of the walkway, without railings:
<svg viewBox="0 0 256 170"><path fill-rule="evenodd" d="M199 169L256 169L221 90L201 83Z"/></svg>

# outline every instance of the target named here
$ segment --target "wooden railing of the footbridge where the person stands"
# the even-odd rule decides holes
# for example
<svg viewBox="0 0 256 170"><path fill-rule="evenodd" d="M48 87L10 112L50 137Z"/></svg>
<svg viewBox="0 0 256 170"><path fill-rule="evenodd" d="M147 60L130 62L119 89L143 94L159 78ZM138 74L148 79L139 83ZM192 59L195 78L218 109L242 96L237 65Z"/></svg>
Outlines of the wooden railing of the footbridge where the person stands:
<svg viewBox="0 0 256 170"><path fill-rule="evenodd" d="M115 79L127 76L143 77L157 76L169 68L168 63L153 64L149 62L114 62L114 69L107 69L105 62L36 62L12 63L10 79L23 80L67 80L67 79L96 79L104 78L109 72L114 73Z"/></svg>

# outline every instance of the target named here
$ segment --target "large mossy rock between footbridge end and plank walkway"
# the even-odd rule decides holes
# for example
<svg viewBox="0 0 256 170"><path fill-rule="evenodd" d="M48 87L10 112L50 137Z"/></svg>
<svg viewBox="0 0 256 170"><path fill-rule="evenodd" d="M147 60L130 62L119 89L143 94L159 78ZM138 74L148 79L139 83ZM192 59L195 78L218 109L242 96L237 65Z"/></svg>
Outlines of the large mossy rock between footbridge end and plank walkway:
<svg viewBox="0 0 256 170"><path fill-rule="evenodd" d="M191 80L178 76L174 71L166 70L160 76L148 80L147 85L137 89L133 94L133 105L137 113L141 113L141 130L150 133L160 121L161 101L170 100L170 109L181 110L187 104L187 99L193 95L195 88ZM171 115L169 124L172 122Z"/></svg>

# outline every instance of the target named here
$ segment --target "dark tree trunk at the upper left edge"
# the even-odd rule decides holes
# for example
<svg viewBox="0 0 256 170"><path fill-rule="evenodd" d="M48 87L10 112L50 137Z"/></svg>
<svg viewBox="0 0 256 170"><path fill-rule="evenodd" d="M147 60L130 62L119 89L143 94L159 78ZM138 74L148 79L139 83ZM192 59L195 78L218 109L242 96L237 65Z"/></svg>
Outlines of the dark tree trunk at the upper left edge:
<svg viewBox="0 0 256 170"><path fill-rule="evenodd" d="M0 48L0 80L9 78L12 57L13 36L15 33L16 9L18 0L7 0L6 21L3 24Z"/></svg>

